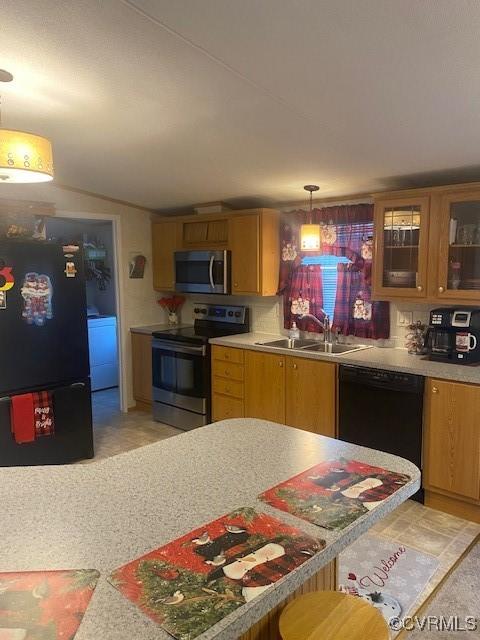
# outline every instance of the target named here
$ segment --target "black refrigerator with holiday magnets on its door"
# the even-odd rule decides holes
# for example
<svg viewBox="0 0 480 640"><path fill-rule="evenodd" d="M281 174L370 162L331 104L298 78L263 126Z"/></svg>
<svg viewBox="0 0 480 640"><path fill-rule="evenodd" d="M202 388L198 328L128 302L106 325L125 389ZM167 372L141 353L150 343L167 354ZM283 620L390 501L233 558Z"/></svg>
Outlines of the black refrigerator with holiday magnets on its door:
<svg viewBox="0 0 480 640"><path fill-rule="evenodd" d="M0 466L93 457L86 308L81 249L0 239ZM53 433L19 444L12 398L41 392Z"/></svg>

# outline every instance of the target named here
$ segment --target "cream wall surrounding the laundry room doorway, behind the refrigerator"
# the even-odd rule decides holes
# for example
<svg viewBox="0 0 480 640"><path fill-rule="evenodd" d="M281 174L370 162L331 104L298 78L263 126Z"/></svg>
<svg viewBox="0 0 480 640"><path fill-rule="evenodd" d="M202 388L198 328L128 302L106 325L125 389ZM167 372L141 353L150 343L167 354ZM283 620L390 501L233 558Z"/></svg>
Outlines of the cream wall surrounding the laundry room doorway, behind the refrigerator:
<svg viewBox="0 0 480 640"><path fill-rule="evenodd" d="M51 202L57 215L62 213L75 218L87 218L90 214L112 216L120 223L120 274L119 274L119 324L123 352L122 383L125 401L134 405L131 379L131 340L129 329L135 325L148 325L162 321L162 313L156 304L153 291L151 252L151 213L123 203L71 191L53 184L0 185L0 199L18 199ZM147 258L145 277L132 280L128 277L129 256L142 253Z"/></svg>

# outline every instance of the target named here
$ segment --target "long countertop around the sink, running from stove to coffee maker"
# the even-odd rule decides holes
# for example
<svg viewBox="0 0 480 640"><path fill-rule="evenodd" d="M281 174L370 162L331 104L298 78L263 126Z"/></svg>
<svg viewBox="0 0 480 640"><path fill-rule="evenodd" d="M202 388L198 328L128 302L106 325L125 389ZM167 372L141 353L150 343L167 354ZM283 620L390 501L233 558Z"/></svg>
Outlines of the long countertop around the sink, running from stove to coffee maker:
<svg viewBox="0 0 480 640"><path fill-rule="evenodd" d="M343 355L328 355L304 350L277 349L276 347L265 347L256 344L257 342L269 342L284 337L285 336L266 333L242 333L222 338L212 338L210 343L225 347L238 347L240 349L293 355L295 357L311 358L312 360L325 360L338 364L352 364L372 367L374 369L415 373L429 378L480 384L480 366L431 362L430 360L425 360L422 356L410 355L406 349L371 347Z"/></svg>

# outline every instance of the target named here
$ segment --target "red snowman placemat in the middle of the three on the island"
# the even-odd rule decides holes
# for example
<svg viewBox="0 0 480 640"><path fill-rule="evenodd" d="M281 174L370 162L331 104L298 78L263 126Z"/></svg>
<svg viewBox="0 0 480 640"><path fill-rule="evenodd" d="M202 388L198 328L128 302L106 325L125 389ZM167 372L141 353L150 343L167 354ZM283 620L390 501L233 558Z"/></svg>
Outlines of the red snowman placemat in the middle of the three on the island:
<svg viewBox="0 0 480 640"><path fill-rule="evenodd" d="M324 546L242 508L117 569L109 581L170 634L191 640Z"/></svg>

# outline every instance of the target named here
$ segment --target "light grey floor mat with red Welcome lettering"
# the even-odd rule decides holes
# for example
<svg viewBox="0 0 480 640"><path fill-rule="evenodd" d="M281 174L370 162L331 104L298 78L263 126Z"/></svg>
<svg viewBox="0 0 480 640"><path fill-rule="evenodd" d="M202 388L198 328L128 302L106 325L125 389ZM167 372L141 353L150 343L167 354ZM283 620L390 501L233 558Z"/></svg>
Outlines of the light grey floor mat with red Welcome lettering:
<svg viewBox="0 0 480 640"><path fill-rule="evenodd" d="M439 565L431 554L367 533L339 556L339 590L369 601L389 622L409 614Z"/></svg>

